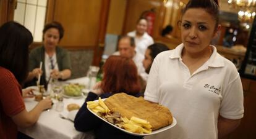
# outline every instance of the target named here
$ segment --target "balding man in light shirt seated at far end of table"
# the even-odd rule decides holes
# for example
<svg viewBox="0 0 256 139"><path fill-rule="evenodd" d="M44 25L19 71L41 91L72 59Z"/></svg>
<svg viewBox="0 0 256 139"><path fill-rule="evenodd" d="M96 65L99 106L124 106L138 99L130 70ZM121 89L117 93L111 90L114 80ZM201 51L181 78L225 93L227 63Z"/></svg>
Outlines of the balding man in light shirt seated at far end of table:
<svg viewBox="0 0 256 139"><path fill-rule="evenodd" d="M118 51L114 52L113 55L121 55L122 57L132 58L138 69L138 74L142 77L144 81L147 81L148 74L145 73L145 68L143 67L143 55L135 50L134 38L130 36L121 36L118 41Z"/></svg>

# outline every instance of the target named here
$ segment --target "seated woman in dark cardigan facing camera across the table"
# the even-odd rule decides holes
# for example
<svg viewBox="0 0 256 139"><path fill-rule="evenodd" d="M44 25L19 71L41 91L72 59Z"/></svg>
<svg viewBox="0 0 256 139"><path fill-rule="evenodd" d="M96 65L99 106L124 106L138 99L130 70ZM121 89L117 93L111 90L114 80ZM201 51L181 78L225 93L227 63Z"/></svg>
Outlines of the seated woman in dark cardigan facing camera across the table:
<svg viewBox="0 0 256 139"><path fill-rule="evenodd" d="M45 25L43 46L33 49L29 55L29 85L36 85L38 74L42 74L40 82L45 87L51 78L64 80L71 76L69 53L58 46L63 35L64 29L60 23L52 22ZM43 63L41 69L40 62Z"/></svg>

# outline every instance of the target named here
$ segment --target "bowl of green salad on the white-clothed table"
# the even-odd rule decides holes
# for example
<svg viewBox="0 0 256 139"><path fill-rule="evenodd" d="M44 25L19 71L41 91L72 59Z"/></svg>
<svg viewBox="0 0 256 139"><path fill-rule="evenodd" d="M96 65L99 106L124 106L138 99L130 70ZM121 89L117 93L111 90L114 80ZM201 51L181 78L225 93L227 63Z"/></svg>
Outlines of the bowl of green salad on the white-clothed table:
<svg viewBox="0 0 256 139"><path fill-rule="evenodd" d="M83 89L85 89L85 85L82 84L67 84L63 87L63 97L66 98L82 98L83 97Z"/></svg>

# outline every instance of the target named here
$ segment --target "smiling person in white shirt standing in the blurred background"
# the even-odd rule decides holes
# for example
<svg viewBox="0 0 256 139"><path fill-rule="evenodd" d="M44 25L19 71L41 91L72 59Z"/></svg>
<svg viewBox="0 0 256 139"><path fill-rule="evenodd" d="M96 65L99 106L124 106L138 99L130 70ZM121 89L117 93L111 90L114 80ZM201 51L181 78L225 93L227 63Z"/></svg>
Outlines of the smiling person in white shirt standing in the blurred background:
<svg viewBox="0 0 256 139"><path fill-rule="evenodd" d="M139 18L136 30L127 33L128 36L135 38L136 52L144 55L148 46L154 43L153 38L147 33L148 22L146 18Z"/></svg>

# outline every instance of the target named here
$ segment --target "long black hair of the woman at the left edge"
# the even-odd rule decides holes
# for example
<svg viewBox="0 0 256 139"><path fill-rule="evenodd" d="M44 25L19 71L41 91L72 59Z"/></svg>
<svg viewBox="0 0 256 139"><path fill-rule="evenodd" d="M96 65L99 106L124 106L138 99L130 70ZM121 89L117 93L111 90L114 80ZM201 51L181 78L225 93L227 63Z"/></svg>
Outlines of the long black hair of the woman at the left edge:
<svg viewBox="0 0 256 139"><path fill-rule="evenodd" d="M28 75L28 46L33 42L30 31L17 22L0 27L0 66L11 71L23 84Z"/></svg>

